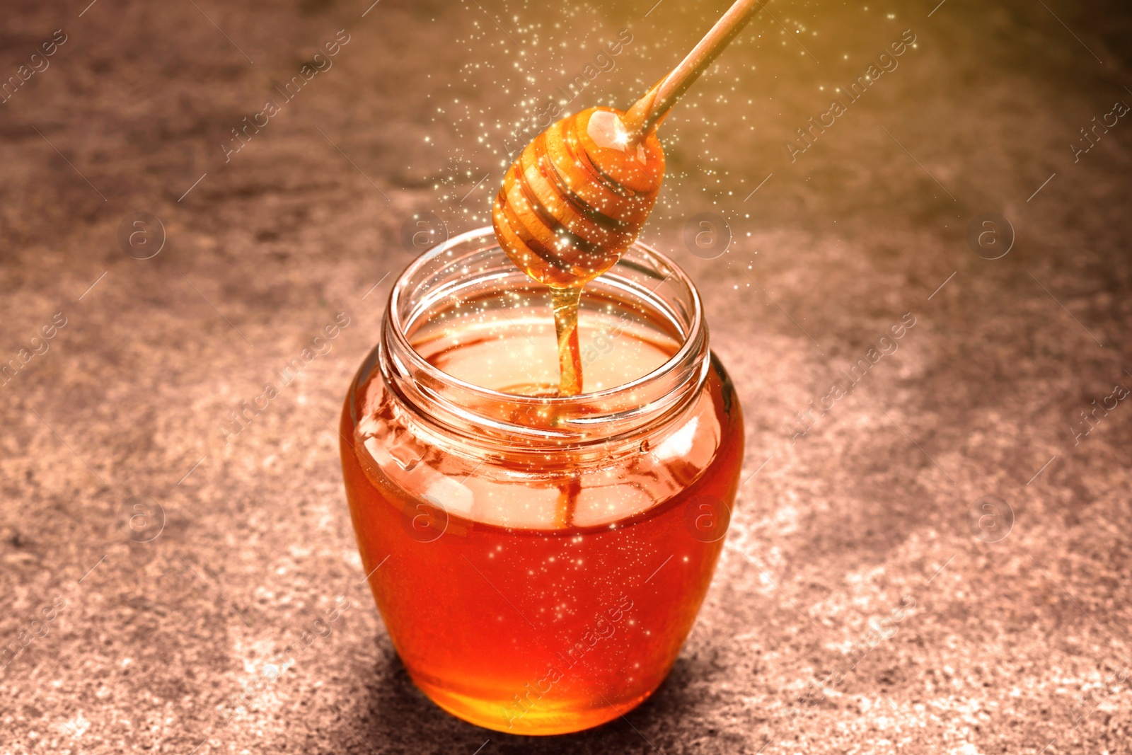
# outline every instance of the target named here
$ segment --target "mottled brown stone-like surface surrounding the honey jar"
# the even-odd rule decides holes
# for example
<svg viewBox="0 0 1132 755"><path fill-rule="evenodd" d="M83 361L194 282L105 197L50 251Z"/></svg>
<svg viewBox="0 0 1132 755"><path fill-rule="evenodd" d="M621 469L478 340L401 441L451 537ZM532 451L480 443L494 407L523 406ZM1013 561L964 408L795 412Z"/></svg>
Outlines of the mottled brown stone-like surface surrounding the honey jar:
<svg viewBox="0 0 1132 755"><path fill-rule="evenodd" d="M408 680L332 427L410 260L402 223L483 224L503 137L602 41L633 34L577 106L627 104L723 5L5 3L3 78L68 41L0 104L0 361L67 325L0 386L0 644L46 630L0 668L0 752L1132 752L1132 406L1071 430L1132 385L1132 125L1069 146L1132 102L1115 0L772 2L664 125L645 232L705 294L757 470L671 677L556 739L470 727ZM342 28L334 67L225 164L230 129ZM783 140L906 28L917 48L790 163ZM168 238L144 261L115 239L143 211ZM718 259L679 241L703 211L734 231ZM964 238L987 212L1017 231L997 260ZM900 350L791 444L794 412L904 312ZM996 542L1005 518L971 526L988 495L1015 517ZM130 530L132 496L155 514ZM335 595L333 634L242 704Z"/></svg>

